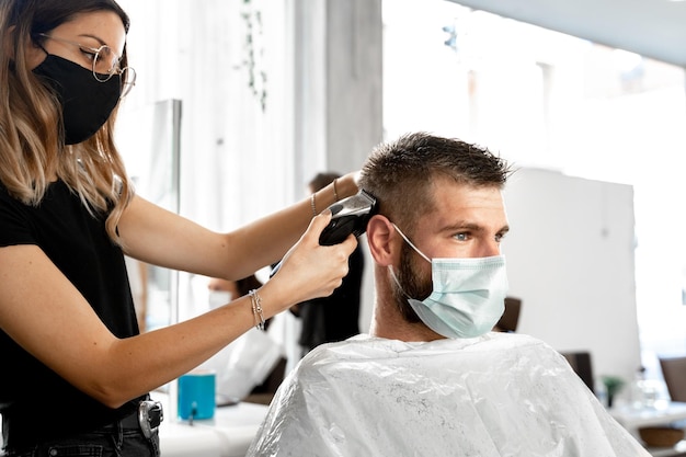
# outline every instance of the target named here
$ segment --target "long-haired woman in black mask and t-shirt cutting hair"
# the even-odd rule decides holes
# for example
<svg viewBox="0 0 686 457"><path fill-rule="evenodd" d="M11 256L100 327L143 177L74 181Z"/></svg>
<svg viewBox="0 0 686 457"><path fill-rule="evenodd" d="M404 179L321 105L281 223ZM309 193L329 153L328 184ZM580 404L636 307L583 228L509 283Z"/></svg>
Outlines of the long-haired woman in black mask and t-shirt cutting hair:
<svg viewBox="0 0 686 457"><path fill-rule="evenodd" d="M352 174L230 233L136 196L112 137L135 78L127 30L114 0L0 0L0 411L9 456L159 455L160 412L147 393L275 313L331 294L356 245L352 236L319 245L331 216L312 217L357 192ZM124 254L227 279L285 258L254 294L139 334Z"/></svg>

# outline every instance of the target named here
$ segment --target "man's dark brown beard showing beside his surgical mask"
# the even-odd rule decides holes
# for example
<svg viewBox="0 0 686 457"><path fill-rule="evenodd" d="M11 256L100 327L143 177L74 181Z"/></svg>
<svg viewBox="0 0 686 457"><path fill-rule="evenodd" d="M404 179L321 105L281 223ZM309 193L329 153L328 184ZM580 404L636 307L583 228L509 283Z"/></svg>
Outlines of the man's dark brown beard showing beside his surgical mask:
<svg viewBox="0 0 686 457"><path fill-rule="evenodd" d="M419 266L418 262L426 262L420 258L408 243L403 243L400 248L400 266L396 274L397 282L391 283L393 301L403 319L410 323L421 322L416 312L408 302L408 298L423 300L428 297L433 290L431 279L431 271L426 275L426 270Z"/></svg>

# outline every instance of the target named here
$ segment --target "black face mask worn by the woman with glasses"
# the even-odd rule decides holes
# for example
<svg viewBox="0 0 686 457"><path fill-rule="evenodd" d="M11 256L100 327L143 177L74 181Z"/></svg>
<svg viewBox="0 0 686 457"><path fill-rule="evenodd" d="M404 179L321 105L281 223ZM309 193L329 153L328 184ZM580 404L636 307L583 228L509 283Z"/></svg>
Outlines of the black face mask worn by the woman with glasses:
<svg viewBox="0 0 686 457"><path fill-rule="evenodd" d="M122 93L118 76L100 82L91 70L53 54L48 54L33 72L43 77L59 95L67 145L76 145L95 135L107 122Z"/></svg>

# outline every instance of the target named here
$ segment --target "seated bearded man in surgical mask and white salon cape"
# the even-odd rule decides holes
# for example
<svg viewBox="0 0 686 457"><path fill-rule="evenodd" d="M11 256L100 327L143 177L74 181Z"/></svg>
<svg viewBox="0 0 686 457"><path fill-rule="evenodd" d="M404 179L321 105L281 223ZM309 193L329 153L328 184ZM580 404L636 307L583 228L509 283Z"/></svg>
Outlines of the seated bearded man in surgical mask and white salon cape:
<svg viewBox="0 0 686 457"><path fill-rule="evenodd" d="M491 332L507 293L510 172L426 134L373 152L359 183L379 204L369 335L310 352L249 456L649 456L554 350Z"/></svg>

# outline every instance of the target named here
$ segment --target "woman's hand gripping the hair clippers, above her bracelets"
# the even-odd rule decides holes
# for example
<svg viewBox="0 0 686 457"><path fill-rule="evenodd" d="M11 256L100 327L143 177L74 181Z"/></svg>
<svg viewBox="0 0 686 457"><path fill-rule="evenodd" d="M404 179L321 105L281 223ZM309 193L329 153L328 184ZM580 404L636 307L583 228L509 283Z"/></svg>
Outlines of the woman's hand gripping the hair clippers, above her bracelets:
<svg viewBox="0 0 686 457"><path fill-rule="evenodd" d="M331 295L347 275L347 258L357 247L357 239L351 235L340 244L320 245L319 236L330 220L330 210L312 218L307 231L282 260L278 272L263 286L263 299L268 293L279 301L275 312ZM265 305L268 301L265 299Z"/></svg>

